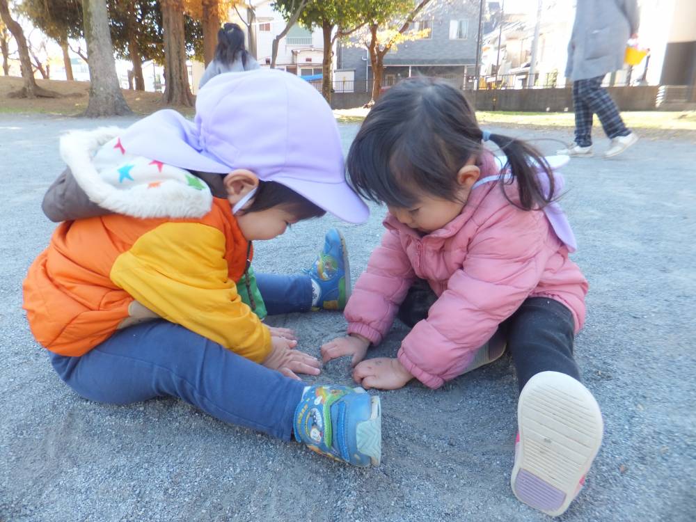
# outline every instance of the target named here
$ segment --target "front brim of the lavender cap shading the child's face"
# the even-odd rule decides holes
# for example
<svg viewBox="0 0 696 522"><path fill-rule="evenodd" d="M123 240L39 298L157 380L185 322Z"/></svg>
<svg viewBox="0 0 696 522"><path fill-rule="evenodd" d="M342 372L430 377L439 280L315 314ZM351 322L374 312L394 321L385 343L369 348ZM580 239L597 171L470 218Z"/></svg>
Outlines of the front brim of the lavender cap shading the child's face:
<svg viewBox="0 0 696 522"><path fill-rule="evenodd" d="M347 223L365 223L370 209L345 183L317 183L298 180L296 177L274 175L271 181L282 183L312 203Z"/></svg>

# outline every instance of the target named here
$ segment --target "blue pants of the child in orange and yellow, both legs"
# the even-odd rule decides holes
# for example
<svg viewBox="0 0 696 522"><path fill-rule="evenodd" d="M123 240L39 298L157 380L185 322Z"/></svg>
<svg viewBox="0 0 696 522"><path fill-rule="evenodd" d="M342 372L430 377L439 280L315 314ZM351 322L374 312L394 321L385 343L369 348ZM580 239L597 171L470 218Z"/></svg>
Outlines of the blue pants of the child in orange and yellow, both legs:
<svg viewBox="0 0 696 522"><path fill-rule="evenodd" d="M308 276L257 280L269 314L310 309ZM177 397L215 418L286 441L305 386L161 319L117 331L83 356L50 357L58 376L88 400L131 404Z"/></svg>

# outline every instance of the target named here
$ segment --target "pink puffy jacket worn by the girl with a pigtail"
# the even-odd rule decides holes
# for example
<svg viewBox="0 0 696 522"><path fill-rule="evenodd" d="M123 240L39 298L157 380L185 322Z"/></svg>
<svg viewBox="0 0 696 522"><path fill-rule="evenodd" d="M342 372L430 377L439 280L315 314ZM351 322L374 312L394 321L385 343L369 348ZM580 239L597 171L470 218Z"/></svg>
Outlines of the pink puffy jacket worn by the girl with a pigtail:
<svg viewBox="0 0 696 522"><path fill-rule="evenodd" d="M505 189L519 203L516 184ZM528 297L560 301L571 310L576 332L583 326L587 280L567 246L544 212L511 205L498 183L473 189L461 214L425 237L391 214L383 224L381 245L345 310L348 333L379 344L413 281L427 280L438 300L398 353L426 386L439 388L464 372L475 350Z"/></svg>

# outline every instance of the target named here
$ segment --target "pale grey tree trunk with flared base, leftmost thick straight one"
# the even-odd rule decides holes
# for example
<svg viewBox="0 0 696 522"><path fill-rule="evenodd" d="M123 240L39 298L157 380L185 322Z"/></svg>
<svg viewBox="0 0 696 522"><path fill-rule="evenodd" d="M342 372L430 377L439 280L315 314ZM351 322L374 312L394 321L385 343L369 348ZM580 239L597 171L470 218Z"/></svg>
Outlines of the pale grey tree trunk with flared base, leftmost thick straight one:
<svg viewBox="0 0 696 522"><path fill-rule="evenodd" d="M118 85L106 0L82 0L82 12L90 77L89 102L84 116L132 114Z"/></svg>

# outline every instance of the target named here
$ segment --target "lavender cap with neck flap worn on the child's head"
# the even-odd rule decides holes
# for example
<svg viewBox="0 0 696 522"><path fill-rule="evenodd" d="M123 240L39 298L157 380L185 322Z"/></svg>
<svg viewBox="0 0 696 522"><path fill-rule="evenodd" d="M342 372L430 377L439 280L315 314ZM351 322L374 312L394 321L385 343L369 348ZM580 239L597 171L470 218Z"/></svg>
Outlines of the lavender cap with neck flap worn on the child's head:
<svg viewBox="0 0 696 522"><path fill-rule="evenodd" d="M329 104L294 74L219 74L198 93L193 122L165 109L134 123L120 138L129 152L191 171L227 174L246 168L349 223L370 216L346 183Z"/></svg>

